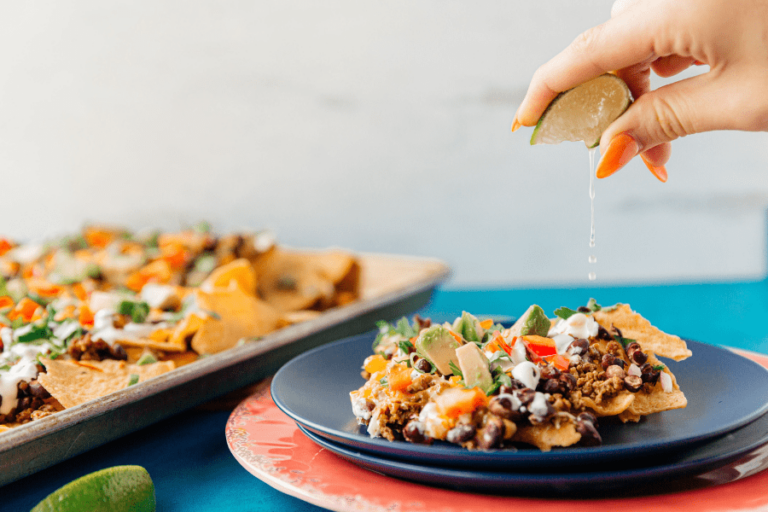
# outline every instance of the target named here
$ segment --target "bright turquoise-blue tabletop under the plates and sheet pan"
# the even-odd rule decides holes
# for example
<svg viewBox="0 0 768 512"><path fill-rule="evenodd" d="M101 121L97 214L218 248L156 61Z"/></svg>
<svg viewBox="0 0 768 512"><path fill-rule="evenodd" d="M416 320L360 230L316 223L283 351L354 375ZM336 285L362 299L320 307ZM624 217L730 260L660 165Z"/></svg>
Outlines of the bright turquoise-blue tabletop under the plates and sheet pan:
<svg viewBox="0 0 768 512"><path fill-rule="evenodd" d="M768 353L768 280L605 288L440 290L420 313L451 317L519 315L531 303L551 312L594 297L629 303L654 325L705 343ZM155 482L159 511L320 510L251 476L224 439L228 410L193 410L0 488L0 510L31 509L82 475L121 464L144 466Z"/></svg>

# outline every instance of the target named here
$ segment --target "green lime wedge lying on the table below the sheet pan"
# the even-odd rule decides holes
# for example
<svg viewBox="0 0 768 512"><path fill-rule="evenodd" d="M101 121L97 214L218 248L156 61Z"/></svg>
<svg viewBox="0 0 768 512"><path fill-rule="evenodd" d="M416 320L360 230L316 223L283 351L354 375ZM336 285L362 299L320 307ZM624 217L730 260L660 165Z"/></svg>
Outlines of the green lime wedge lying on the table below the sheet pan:
<svg viewBox="0 0 768 512"><path fill-rule="evenodd" d="M155 486L141 466L115 466L57 489L32 512L154 512Z"/></svg>

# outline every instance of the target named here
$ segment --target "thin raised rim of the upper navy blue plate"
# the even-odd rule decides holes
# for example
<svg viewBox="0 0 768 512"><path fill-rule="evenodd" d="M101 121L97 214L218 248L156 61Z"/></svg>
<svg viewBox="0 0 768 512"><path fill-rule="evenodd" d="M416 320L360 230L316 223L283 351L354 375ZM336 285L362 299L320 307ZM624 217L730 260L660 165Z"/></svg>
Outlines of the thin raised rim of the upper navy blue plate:
<svg viewBox="0 0 768 512"><path fill-rule="evenodd" d="M361 436L350 432L329 428L325 425L320 425L313 421L307 421L298 413L292 411L285 403L283 403L278 394L275 391L275 382L280 386L280 380L284 379L284 375L290 370L292 364L297 363L305 358L312 358L317 352L332 349L337 345L345 343L362 343L363 340L373 339L374 334L377 331L369 331L366 333L358 334L356 336L350 336L337 340L332 343L328 343L321 347L317 347L308 352L305 352L291 361L283 365L280 370L275 374L274 379L270 384L270 395L275 405L290 417L295 422L307 427L310 431L314 432L321 437L329 439L332 442L343 444L351 449L365 451L371 454L384 455L390 458L398 458L401 460L413 460L419 456L428 456L433 462L451 462L452 464L459 463L464 467L470 467L477 464L500 464L504 463L522 463L533 464L530 467L548 467L554 464L584 464L593 462L608 462L615 461L628 454L636 455L638 450L643 451L643 457L652 456L670 449L677 449L686 445L695 445L713 439L718 436L722 436L742 428L750 423L756 421L766 413L768 413L768 398L761 407L753 411L752 413L743 416L737 421L723 425L718 429L710 430L702 433L698 436L681 436L672 440L658 440L650 443L632 443L622 446L599 446L599 447L573 447L562 450L552 450L549 452L541 452L538 450L525 450L525 451L512 451L512 450L496 450L496 451L470 451L459 450L453 447L434 447L434 446L422 446L414 445L412 443L396 443L390 442L381 438L371 438L367 436ZM733 350L727 347L721 347L718 345L712 345L703 343L696 340L684 338L686 342L693 343L703 347L704 350L715 350L721 352L726 357L733 357L734 360L743 364L751 364L754 367L759 368L761 371L766 372L768 375L768 368L763 365L752 361L751 359L739 355ZM699 349L701 350L701 348ZM695 353L695 352L694 352ZM435 449L437 448L437 450ZM459 456L460 460L456 457Z"/></svg>

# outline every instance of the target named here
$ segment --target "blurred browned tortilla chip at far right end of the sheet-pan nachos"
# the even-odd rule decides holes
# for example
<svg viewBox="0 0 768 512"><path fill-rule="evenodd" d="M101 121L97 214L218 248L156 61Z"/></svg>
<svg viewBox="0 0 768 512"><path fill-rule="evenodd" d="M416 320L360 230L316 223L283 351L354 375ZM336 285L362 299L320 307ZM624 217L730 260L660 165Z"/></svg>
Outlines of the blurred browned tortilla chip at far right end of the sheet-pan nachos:
<svg viewBox="0 0 768 512"><path fill-rule="evenodd" d="M360 266L341 251L275 249L253 261L259 295L281 311L326 309L340 291L358 294ZM347 295L344 296L348 299Z"/></svg>

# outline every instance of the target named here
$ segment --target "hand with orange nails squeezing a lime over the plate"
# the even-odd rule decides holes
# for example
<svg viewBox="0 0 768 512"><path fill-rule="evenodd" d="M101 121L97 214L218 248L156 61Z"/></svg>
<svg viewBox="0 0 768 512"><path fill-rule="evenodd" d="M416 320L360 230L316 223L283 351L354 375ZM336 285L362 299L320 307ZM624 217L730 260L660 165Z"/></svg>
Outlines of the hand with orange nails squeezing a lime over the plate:
<svg viewBox="0 0 768 512"><path fill-rule="evenodd" d="M768 0L617 0L611 19L531 79L512 131L533 126L558 93L616 70L635 102L603 132L597 177L640 154L667 181L669 142L711 130L768 131ZM692 64L707 73L650 90Z"/></svg>

